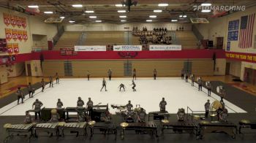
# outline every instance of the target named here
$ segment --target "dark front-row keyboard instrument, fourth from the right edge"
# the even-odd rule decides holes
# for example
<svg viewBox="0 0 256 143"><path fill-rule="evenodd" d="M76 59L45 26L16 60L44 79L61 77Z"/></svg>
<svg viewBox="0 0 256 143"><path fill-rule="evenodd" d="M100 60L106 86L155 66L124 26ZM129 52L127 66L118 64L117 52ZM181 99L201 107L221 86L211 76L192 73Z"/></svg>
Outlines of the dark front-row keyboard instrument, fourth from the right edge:
<svg viewBox="0 0 256 143"><path fill-rule="evenodd" d="M125 130L133 130L135 131L135 134L149 134L158 137L157 123L154 121L148 121L147 123L128 123L127 127L122 127L121 139L124 139Z"/></svg>

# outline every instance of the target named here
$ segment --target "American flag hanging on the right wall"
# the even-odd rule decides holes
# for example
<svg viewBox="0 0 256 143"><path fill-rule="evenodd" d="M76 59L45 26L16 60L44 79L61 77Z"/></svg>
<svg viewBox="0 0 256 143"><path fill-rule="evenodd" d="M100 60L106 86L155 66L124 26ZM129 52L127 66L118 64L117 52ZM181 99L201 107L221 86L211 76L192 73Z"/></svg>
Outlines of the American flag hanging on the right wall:
<svg viewBox="0 0 256 143"><path fill-rule="evenodd" d="M255 13L241 17L238 47L252 47L252 32L255 24Z"/></svg>

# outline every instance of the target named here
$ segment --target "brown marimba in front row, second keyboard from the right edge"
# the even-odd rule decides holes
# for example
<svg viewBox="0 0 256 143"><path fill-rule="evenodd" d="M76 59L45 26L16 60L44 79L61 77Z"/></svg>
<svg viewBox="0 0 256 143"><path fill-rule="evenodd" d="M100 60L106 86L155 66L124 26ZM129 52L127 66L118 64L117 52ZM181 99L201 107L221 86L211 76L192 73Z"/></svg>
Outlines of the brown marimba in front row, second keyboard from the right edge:
<svg viewBox="0 0 256 143"><path fill-rule="evenodd" d="M201 121L199 123L200 139L207 133L225 133L230 135L233 139L236 138L237 128L236 125L230 122L219 121Z"/></svg>

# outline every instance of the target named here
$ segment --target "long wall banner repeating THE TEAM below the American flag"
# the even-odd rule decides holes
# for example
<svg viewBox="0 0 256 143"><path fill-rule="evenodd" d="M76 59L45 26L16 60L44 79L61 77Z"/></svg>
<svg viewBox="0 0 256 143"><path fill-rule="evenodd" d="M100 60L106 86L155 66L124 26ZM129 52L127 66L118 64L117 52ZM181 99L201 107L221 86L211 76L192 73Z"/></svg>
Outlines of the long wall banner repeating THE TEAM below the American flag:
<svg viewBox="0 0 256 143"><path fill-rule="evenodd" d="M253 53L233 53L226 52L226 58L230 58L238 61L247 61L251 63L256 63L256 54Z"/></svg>

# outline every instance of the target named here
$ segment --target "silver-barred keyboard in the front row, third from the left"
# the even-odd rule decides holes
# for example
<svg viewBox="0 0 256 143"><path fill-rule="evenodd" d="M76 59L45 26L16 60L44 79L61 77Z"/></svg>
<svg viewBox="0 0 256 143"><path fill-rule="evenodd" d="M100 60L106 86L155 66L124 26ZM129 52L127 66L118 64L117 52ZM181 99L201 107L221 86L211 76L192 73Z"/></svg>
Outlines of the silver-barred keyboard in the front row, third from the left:
<svg viewBox="0 0 256 143"><path fill-rule="evenodd" d="M86 122L80 122L80 123L64 123L61 130L62 130L62 136L64 136L64 131L75 131L78 134L81 132L83 133L83 136L86 136Z"/></svg>

